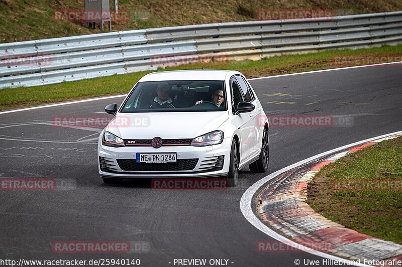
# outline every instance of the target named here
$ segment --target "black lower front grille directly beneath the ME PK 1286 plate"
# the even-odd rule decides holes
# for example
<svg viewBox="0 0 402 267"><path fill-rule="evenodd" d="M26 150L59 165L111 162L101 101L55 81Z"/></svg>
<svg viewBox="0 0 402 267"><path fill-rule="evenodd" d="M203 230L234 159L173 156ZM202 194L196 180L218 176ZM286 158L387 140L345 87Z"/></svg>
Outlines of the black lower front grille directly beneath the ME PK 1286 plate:
<svg viewBox="0 0 402 267"><path fill-rule="evenodd" d="M197 165L198 159L180 159L177 162L138 163L136 160L118 159L123 171L157 172L157 171L190 171Z"/></svg>

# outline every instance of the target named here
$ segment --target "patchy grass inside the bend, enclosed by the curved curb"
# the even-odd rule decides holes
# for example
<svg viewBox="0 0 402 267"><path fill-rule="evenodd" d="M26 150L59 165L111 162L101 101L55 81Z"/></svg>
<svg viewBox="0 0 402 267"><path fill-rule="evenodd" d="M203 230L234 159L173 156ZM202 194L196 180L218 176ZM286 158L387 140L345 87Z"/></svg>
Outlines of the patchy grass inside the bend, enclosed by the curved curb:
<svg viewBox="0 0 402 267"><path fill-rule="evenodd" d="M309 184L308 202L330 220L358 232L402 243L402 191L340 190L333 183L402 182L402 137L383 141L325 166Z"/></svg>

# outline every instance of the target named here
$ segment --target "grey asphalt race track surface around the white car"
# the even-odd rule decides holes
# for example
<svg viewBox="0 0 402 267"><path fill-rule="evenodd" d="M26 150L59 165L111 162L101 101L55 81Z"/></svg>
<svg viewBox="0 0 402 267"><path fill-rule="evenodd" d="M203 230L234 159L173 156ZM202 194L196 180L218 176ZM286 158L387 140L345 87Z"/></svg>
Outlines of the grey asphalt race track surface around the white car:
<svg viewBox="0 0 402 267"><path fill-rule="evenodd" d="M251 81L267 115L344 115L352 124L274 127L272 173L316 154L402 129L402 65L380 65ZM127 88L129 90L130 88ZM10 259L225 258L233 266L294 266L306 252L261 253L273 240L242 215L244 191L265 175L241 171L227 190L154 190L149 180L105 185L97 174L100 128L52 125L54 116L99 113L123 98L0 114L0 178L72 179L73 190L0 190L0 254ZM54 253L55 241L146 241L147 253ZM171 262L171 263L169 263ZM225 262L225 261L224 261ZM232 263L233 262L233 263ZM303 265L303 264L302 264Z"/></svg>

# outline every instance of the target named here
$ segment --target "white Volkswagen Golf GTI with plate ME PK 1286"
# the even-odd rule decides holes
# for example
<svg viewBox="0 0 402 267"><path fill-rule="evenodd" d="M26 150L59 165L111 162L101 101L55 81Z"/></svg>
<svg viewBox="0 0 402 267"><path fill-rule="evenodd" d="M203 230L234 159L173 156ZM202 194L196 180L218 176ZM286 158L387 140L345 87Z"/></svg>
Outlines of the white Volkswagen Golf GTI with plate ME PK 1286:
<svg viewBox="0 0 402 267"><path fill-rule="evenodd" d="M105 183L133 178L225 177L268 169L268 119L238 71L182 70L142 77L99 136Z"/></svg>

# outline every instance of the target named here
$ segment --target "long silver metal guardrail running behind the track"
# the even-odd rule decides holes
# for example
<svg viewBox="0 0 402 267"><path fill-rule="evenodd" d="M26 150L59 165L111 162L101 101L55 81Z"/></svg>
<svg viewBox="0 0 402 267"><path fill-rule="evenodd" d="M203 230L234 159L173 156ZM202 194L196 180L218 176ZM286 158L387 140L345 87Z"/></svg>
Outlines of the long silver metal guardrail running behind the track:
<svg viewBox="0 0 402 267"><path fill-rule="evenodd" d="M55 84L183 63L196 55L282 53L402 43L402 11L305 20L213 23L0 44L0 88ZM168 58L167 61L160 60Z"/></svg>

